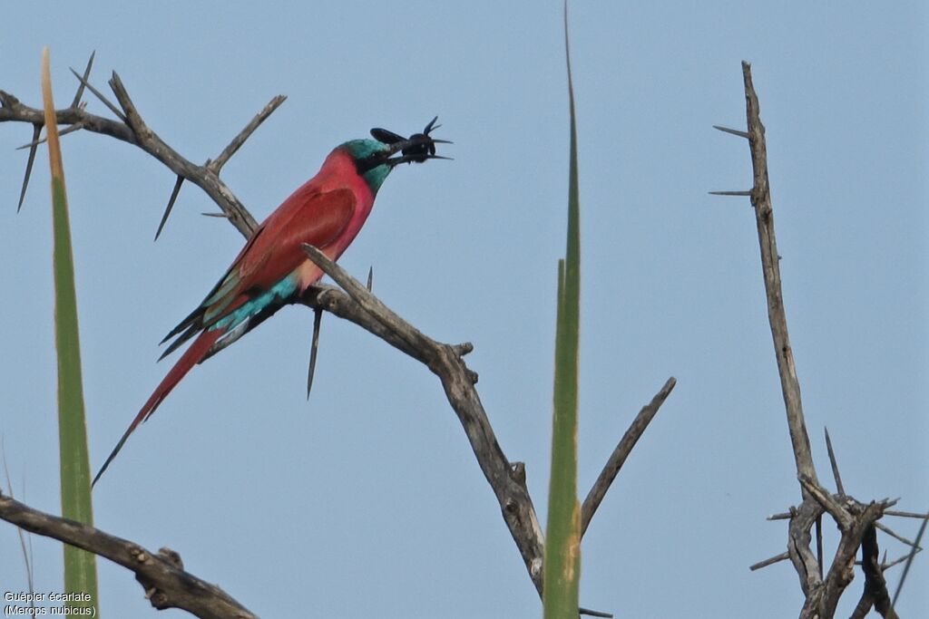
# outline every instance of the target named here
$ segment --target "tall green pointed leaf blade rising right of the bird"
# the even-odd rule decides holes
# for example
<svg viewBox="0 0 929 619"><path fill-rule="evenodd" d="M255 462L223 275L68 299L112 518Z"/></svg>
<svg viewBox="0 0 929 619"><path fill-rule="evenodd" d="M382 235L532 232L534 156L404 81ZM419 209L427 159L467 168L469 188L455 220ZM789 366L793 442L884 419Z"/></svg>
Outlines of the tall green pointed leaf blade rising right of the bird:
<svg viewBox="0 0 929 619"><path fill-rule="evenodd" d="M555 335L555 395L552 422L552 471L545 531L543 607L545 619L577 619L581 578L581 505L577 496L578 348L581 318L581 233L578 200L577 129L574 87L568 52L570 153L568 248L558 263L558 313Z"/></svg>

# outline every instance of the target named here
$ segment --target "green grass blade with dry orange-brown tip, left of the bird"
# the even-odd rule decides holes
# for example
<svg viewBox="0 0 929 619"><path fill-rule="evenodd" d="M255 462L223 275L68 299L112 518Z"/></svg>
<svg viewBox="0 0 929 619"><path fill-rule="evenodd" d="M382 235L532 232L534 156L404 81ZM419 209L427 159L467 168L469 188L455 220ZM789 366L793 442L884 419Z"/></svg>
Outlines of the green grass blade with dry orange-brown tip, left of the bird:
<svg viewBox="0 0 929 619"><path fill-rule="evenodd" d="M42 52L42 98L45 106L48 161L52 173L52 267L55 276L55 347L58 351L61 515L78 522L93 524L71 224L68 220L68 199L64 186L55 103L52 100L47 47ZM68 602L68 606L75 611L98 607L95 555L65 545L64 592L89 594L89 601ZM71 614L81 613L78 611ZM95 616L99 616L99 613Z"/></svg>

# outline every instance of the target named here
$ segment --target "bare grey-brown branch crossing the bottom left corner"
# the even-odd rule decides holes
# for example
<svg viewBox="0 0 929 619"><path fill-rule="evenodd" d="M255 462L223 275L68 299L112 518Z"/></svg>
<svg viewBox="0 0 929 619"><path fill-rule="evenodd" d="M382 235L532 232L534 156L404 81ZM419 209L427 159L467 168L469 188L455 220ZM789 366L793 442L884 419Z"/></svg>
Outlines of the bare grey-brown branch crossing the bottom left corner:
<svg viewBox="0 0 929 619"><path fill-rule="evenodd" d="M83 548L131 570L156 609L180 608L201 619L257 619L216 585L185 572L177 553L166 548L155 554L128 540L33 509L2 494L0 519L25 531Z"/></svg>

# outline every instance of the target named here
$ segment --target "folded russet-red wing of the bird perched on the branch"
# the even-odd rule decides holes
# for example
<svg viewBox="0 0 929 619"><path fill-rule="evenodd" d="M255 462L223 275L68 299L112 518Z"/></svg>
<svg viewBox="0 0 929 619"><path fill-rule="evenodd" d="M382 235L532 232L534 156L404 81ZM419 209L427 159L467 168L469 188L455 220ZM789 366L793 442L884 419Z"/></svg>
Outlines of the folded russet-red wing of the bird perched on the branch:
<svg viewBox="0 0 929 619"><path fill-rule="evenodd" d="M307 260L301 244L323 249L333 243L351 220L356 203L347 188L320 191L307 184L294 191L258 226L203 303L164 338L167 342L180 334L164 355L289 275Z"/></svg>

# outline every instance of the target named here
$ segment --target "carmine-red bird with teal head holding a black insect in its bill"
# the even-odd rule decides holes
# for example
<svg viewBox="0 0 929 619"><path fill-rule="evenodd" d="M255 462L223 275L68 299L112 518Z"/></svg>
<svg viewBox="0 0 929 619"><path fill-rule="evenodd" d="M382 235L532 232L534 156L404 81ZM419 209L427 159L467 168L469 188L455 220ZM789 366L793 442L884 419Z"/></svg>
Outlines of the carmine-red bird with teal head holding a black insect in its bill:
<svg viewBox="0 0 929 619"><path fill-rule="evenodd" d="M93 484L123 448L129 434L149 419L190 368L241 338L284 305L294 303L322 277L320 268L301 249L303 243L337 260L358 235L371 213L377 190L394 167L405 162L445 159L436 155L435 145L447 142L429 136L438 126L435 123L433 119L424 133L409 139L385 129L373 129L376 140L358 139L340 145L326 157L319 173L258 226L203 303L162 341L177 338L164 351L164 358L197 338L138 411Z"/></svg>

